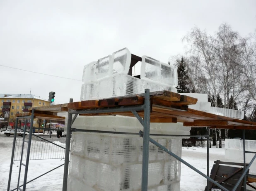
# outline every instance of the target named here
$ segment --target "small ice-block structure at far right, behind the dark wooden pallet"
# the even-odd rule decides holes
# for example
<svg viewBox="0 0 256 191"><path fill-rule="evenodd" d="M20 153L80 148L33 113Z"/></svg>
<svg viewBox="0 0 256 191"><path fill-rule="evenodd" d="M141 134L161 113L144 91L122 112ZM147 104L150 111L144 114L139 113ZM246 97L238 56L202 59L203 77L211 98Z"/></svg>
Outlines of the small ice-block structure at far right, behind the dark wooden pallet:
<svg viewBox="0 0 256 191"><path fill-rule="evenodd" d="M243 140L239 139L225 139L225 158L230 162L244 163ZM256 152L256 141L245 140L245 150ZM245 153L246 163L250 163L254 157L254 153ZM256 173L256 161L252 163L249 174Z"/></svg>

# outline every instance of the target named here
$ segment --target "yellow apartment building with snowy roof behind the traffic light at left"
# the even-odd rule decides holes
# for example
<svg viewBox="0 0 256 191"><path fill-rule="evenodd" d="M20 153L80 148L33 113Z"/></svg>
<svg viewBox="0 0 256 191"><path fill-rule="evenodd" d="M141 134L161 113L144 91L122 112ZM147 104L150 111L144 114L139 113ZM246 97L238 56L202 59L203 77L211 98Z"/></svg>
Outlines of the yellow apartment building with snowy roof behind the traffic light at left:
<svg viewBox="0 0 256 191"><path fill-rule="evenodd" d="M14 126L15 114L29 112L31 107L49 106L50 102L41 97L32 94L0 94L0 118L4 118L1 123ZM29 125L30 119L27 119ZM34 127L39 127L41 120L34 120ZM24 126L24 120L19 122L20 126ZM2 126L2 125L1 125Z"/></svg>

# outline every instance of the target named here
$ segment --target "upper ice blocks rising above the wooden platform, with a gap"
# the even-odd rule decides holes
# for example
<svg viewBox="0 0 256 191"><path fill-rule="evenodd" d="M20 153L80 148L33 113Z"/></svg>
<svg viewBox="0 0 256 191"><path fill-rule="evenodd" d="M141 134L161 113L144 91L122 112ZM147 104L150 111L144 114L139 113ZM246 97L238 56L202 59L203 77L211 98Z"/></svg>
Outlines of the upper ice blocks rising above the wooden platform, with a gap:
<svg viewBox="0 0 256 191"><path fill-rule="evenodd" d="M85 65L81 100L138 94L149 88L151 92L177 92L177 69L143 56L140 78L128 75L131 53L127 48Z"/></svg>

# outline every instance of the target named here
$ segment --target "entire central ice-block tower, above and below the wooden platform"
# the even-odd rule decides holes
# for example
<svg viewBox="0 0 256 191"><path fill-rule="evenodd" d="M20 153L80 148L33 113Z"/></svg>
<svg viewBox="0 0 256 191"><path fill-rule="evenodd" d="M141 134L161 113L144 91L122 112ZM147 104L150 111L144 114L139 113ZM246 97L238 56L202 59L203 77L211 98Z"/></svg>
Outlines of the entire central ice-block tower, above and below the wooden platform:
<svg viewBox="0 0 256 191"><path fill-rule="evenodd" d="M84 67L81 100L103 99L169 90L177 92L177 68L142 56L140 78L128 75L132 55L127 48L91 62ZM206 94L187 94L198 98L189 106L210 112ZM212 113L220 111L211 111ZM224 112L224 111L221 111ZM226 114L226 113L225 113ZM224 114L224 115L225 115ZM234 116L234 114L229 114ZM237 117L239 115L236 114ZM142 125L133 117L78 116L73 128L138 133ZM152 137L181 157L182 135L190 134L183 123L151 123L150 132L179 134L180 137ZM76 191L140 191L142 178L142 141L138 135L73 132L71 140L68 190ZM181 163L150 144L149 191L179 191Z"/></svg>

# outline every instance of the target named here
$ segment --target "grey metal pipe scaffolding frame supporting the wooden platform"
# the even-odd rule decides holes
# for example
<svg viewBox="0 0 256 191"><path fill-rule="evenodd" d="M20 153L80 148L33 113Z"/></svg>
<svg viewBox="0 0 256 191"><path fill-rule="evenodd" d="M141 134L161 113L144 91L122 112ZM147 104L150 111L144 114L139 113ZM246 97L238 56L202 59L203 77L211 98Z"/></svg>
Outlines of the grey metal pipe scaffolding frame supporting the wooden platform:
<svg viewBox="0 0 256 191"><path fill-rule="evenodd" d="M72 99L70 99L70 103L72 102ZM65 148L65 163L64 165L64 174L63 174L63 191L67 191L67 182L68 182L68 167L69 167L69 151L70 151L70 138L71 138L71 130L74 132L80 131L80 132L95 132L95 133L111 133L111 134L133 134L133 135L139 135L140 137L143 138L143 150L142 150L142 182L141 182L141 190L142 191L147 191L147 185L148 185L148 163L149 163L149 144L150 142L154 144L155 146L159 147L172 157L176 158L176 160L179 160L181 163L184 165L188 166L201 176L205 177L207 179L207 190L209 191L209 183L212 182L213 184L217 185L220 189L224 191L228 191L224 186L216 182L214 179L210 178L209 175L209 127L207 127L207 134L204 135L207 137L207 174L204 174L203 172L200 172L198 169L187 163L185 160L181 159L179 156L174 154L173 152L169 151L167 148L162 146L161 144L157 143L154 139L150 138L151 136L177 136L177 137L185 137L184 135L171 135L171 134L150 134L150 90L145 89L145 101L144 104L142 105L135 105L135 106L119 106L119 107L109 107L109 108L89 108L89 109L68 109L68 124L67 124L67 134L66 134L66 148ZM173 110L176 110L176 108L172 108ZM178 110L178 109L177 109ZM93 114L93 113L111 113L111 112L124 112L124 111L129 111L132 112L133 115L139 120L141 125L143 126L143 132L140 131L138 133L128 133L128 132L111 132L111 131L99 131L99 130L80 130L80 129L72 129L72 124L75 121L75 118L79 114ZM137 111L144 111L144 117L143 119L139 116ZM73 117L72 115L75 114ZM24 118L24 117L23 117ZM25 177L24 177L24 182L23 182L23 189L20 189L21 186L19 186L19 181L17 185L17 190L26 190L26 184L33 181L27 182L27 169L29 165L29 150L30 150L30 144L31 144L31 137L32 137L32 127L33 127L33 119L34 119L34 109L31 112L31 124L30 124L30 130L29 130L29 140L28 140L28 153L27 153L27 160L26 164L24 166L26 167L25 169ZM16 118L17 122L18 118ZM13 163L13 157L14 157L14 147L15 147L15 140L16 140L16 134L17 134L17 123L15 123L15 133L14 133L14 141L13 141L13 147L12 147L12 158L11 158L11 165L10 165L10 174L9 174L9 180L8 180L8 188L7 191L10 191L10 182L11 182L11 176L12 176L12 163ZM25 130L25 129L24 129ZM188 135L188 137L193 137L191 135ZM198 136L194 136L198 137ZM23 138L24 139L24 138ZM24 141L24 140L23 140ZM245 144L244 144L245 145ZM241 181L244 179L244 186L246 190L246 174L249 170L249 167L253 163L254 159L256 158L256 155L253 157L249 165L246 167L245 164L245 153L249 151L245 151L245 146L244 146L244 172L240 179L237 181L236 185L232 189L232 191L235 191L237 189L237 186L241 183ZM21 164L22 160L21 160ZM62 165L60 165L62 166ZM60 167L58 166L58 167ZM58 168L56 167L56 168ZM54 170L54 169L53 169ZM51 170L52 171L52 170ZM49 172L51 172L49 171ZM19 171L20 172L20 171ZM48 172L46 172L48 173ZM45 174L46 174L45 173ZM42 175L41 175L42 176ZM41 177L39 176L39 177ZM37 177L38 178L38 177ZM13 189L15 190L15 189Z"/></svg>

